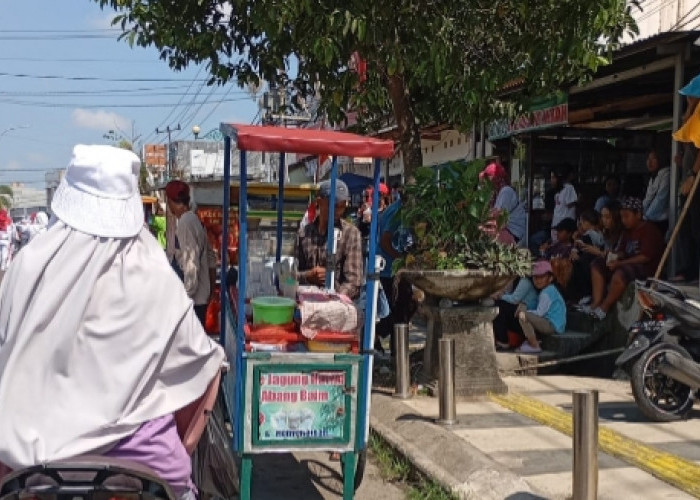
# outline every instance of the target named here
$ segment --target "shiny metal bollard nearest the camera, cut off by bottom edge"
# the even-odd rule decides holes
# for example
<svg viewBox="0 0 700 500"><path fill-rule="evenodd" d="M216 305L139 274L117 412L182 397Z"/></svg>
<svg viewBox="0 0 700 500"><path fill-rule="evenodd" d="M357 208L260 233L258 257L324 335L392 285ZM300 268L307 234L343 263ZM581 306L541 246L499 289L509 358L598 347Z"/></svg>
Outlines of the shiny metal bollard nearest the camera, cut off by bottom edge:
<svg viewBox="0 0 700 500"><path fill-rule="evenodd" d="M598 391L574 391L573 500L598 497Z"/></svg>

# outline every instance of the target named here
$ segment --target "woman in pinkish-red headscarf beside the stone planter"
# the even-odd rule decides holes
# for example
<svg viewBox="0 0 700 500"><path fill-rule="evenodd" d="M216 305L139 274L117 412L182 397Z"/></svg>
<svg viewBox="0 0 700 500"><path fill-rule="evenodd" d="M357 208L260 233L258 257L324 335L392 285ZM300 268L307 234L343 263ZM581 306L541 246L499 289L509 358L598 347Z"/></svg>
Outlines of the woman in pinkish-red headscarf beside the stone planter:
<svg viewBox="0 0 700 500"><path fill-rule="evenodd" d="M479 174L480 179L488 179L493 186L491 198L492 215L494 218L505 212L508 216L506 223L496 239L505 244L516 244L525 235L527 213L521 203L518 193L510 185L506 169L497 161L489 163Z"/></svg>

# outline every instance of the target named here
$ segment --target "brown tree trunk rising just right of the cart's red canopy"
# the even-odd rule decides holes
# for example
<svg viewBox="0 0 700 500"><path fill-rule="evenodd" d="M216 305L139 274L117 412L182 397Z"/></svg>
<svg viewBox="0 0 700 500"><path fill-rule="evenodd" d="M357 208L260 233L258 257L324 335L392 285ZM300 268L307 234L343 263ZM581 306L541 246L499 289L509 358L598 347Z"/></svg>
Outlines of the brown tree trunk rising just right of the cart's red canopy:
<svg viewBox="0 0 700 500"><path fill-rule="evenodd" d="M403 76L395 74L388 78L388 90L394 108L394 118L399 135L399 150L403 157L404 176L408 179L423 165L420 128L413 113L413 103ZM388 179L387 179L388 180Z"/></svg>

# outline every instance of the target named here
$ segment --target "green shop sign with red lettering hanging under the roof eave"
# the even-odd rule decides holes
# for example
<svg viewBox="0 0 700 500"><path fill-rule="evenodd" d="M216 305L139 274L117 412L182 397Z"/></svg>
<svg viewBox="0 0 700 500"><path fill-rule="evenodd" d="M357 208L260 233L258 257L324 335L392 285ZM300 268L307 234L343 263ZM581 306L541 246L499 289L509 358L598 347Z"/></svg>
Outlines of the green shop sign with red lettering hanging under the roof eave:
<svg viewBox="0 0 700 500"><path fill-rule="evenodd" d="M534 103L530 111L515 120L497 120L489 125L490 141L522 132L540 130L569 123L569 102L566 94L557 94Z"/></svg>

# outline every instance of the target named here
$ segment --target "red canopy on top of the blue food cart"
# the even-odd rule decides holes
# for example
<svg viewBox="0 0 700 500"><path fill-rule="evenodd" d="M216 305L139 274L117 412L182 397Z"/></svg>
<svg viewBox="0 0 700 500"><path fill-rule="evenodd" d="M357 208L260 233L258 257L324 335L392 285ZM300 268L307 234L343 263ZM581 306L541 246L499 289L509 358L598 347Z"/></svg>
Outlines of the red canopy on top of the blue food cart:
<svg viewBox="0 0 700 500"><path fill-rule="evenodd" d="M303 128L260 127L222 123L221 132L234 138L238 149L307 155L391 158L393 141L346 132Z"/></svg>

